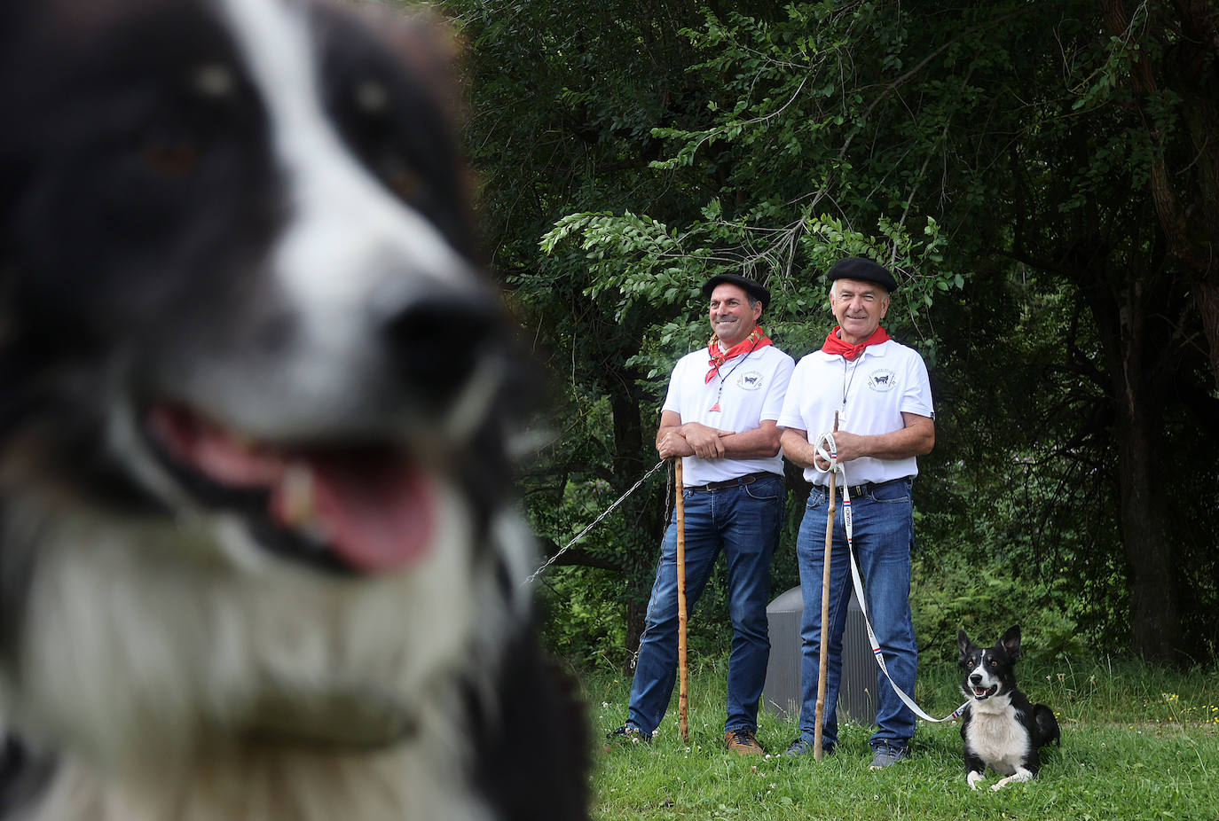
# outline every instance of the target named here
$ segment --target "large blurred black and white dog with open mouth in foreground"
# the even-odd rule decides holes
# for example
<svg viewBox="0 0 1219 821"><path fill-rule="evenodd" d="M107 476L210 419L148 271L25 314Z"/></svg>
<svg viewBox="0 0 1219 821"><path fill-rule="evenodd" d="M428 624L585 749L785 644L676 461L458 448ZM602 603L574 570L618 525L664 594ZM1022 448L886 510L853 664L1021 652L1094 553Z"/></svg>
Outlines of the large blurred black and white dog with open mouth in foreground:
<svg viewBox="0 0 1219 821"><path fill-rule="evenodd" d="M452 56L0 5L0 819L586 816Z"/></svg>

